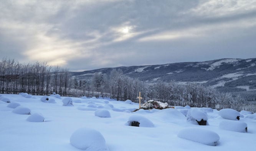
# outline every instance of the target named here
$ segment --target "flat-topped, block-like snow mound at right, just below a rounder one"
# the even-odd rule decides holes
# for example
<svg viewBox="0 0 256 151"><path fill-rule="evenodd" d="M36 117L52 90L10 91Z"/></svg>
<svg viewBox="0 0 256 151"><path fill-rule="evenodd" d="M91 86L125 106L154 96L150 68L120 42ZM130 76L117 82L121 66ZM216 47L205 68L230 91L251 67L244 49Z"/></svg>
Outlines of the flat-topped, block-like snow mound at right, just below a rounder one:
<svg viewBox="0 0 256 151"><path fill-rule="evenodd" d="M235 120L223 120L220 122L219 128L235 132L247 132L247 124L245 122Z"/></svg>

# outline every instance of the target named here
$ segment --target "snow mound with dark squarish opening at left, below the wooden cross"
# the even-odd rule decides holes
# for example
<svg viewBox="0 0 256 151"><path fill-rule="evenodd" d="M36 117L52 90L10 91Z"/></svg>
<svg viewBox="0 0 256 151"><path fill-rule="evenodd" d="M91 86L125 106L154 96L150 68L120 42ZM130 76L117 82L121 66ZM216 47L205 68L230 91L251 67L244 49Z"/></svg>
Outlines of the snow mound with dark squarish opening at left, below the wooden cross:
<svg viewBox="0 0 256 151"><path fill-rule="evenodd" d="M154 127L154 124L149 119L140 115L130 116L127 123L129 126L134 126L134 122L139 122L139 127Z"/></svg>

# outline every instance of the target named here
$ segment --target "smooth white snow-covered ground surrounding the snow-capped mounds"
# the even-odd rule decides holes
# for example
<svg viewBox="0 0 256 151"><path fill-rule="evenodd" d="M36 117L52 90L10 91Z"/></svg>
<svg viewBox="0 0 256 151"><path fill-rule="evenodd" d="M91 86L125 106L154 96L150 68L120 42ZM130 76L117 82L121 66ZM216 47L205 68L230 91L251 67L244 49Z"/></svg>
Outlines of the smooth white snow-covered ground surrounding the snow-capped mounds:
<svg viewBox="0 0 256 151"><path fill-rule="evenodd" d="M72 98L74 106L63 106L62 99L65 97L49 97L56 103L45 103L40 100L42 96L32 96L32 98L21 95L2 94L2 96L31 109L32 115L40 113L45 121L29 122L26 119L31 115L16 114L12 112L13 108L7 107L10 103L0 101L1 151L79 151L80 149L71 145L70 138L76 130L83 127L100 132L106 140L109 151L251 151L256 148L256 114L243 114L244 118L241 117L239 121L247 124L248 133L241 133L220 129L219 124L227 119L223 119L215 110L206 114L209 125L200 126L187 122L183 115L185 109L179 109L183 114L178 109L139 110L129 113L138 108L138 104ZM98 108L109 111L111 117L95 116L95 110ZM139 120L145 118L154 125L132 127L127 124L131 118ZM199 128L199 130L196 129L186 135L189 133L187 128L192 130ZM200 133L200 129L217 133L220 137L217 145L209 146L184 139L189 137L198 140L197 133ZM178 133L181 137L178 137ZM203 132L198 136L211 137L211 135L207 136L207 133ZM192 134L194 137L191 137ZM81 140L86 141L88 138Z"/></svg>

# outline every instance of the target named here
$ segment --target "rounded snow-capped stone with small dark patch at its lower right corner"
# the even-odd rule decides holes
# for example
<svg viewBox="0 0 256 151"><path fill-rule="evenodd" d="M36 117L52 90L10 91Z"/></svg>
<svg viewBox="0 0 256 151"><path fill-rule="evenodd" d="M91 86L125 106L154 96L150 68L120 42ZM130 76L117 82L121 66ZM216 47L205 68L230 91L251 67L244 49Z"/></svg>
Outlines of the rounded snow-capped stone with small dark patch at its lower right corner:
<svg viewBox="0 0 256 151"><path fill-rule="evenodd" d="M239 120L240 113L234 109L221 109L218 114L223 119Z"/></svg>

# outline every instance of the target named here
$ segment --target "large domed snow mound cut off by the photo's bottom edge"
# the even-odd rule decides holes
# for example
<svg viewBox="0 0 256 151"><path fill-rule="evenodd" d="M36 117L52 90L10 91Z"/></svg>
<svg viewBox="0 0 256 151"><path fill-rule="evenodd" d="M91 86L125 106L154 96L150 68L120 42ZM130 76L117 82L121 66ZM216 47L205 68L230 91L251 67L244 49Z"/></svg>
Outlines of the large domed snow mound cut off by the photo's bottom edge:
<svg viewBox="0 0 256 151"><path fill-rule="evenodd" d="M76 130L70 137L70 143L74 147L86 151L109 151L102 134L94 129Z"/></svg>

